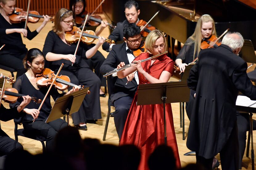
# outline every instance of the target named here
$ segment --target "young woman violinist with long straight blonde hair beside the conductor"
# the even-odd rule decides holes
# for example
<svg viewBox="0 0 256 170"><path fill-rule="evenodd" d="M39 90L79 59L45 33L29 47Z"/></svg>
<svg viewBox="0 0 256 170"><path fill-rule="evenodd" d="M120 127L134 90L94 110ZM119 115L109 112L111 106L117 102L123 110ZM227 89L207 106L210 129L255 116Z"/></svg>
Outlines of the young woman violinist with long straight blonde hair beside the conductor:
<svg viewBox="0 0 256 170"><path fill-rule="evenodd" d="M208 39L212 35L216 36L214 20L210 15L202 15L196 23L195 32L187 39L175 60L181 72L198 56L203 38Z"/></svg>

